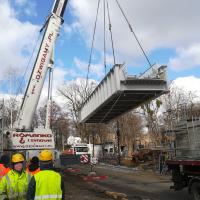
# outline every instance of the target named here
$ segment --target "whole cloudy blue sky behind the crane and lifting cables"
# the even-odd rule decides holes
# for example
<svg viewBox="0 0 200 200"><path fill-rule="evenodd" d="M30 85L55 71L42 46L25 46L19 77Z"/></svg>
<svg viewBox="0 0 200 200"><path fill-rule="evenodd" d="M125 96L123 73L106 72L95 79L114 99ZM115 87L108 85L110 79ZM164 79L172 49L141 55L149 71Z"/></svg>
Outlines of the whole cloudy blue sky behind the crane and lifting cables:
<svg viewBox="0 0 200 200"><path fill-rule="evenodd" d="M97 81L104 76L102 2L90 71L90 78ZM119 2L151 63L168 65L169 80L181 78L186 85L184 78L188 80L190 77L187 85L191 89L194 82L200 84L199 0L191 0L190 3L188 0ZM148 63L115 0L109 3L117 63L125 62L129 73L139 74L148 68ZM53 0L0 0L0 93L9 91L9 69L16 74L13 78L16 79L13 90L16 90L34 49L38 30L52 5ZM55 88L63 81L86 77L96 6L97 0L69 0L55 48ZM113 64L108 28L106 34L108 71Z"/></svg>

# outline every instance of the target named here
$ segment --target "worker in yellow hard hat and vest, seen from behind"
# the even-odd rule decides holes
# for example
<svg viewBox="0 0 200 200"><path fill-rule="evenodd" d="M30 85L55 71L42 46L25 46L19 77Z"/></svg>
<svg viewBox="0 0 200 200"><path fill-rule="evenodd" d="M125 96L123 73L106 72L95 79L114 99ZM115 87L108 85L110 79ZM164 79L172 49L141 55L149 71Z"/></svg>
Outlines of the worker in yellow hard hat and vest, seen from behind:
<svg viewBox="0 0 200 200"><path fill-rule="evenodd" d="M29 183L27 199L59 200L64 197L64 182L59 173L53 171L53 155L50 150L39 154L40 172Z"/></svg>

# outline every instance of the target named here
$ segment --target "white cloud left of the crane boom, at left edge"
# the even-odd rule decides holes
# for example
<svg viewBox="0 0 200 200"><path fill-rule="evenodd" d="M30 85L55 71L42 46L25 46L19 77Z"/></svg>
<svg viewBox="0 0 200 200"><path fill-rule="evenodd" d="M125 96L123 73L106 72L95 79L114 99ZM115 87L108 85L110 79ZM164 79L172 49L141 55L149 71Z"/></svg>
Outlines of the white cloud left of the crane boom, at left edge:
<svg viewBox="0 0 200 200"><path fill-rule="evenodd" d="M0 80L2 80L10 67L22 74L30 57L28 55L33 50L39 27L16 19L15 11L11 9L7 0L1 1L0 13Z"/></svg>

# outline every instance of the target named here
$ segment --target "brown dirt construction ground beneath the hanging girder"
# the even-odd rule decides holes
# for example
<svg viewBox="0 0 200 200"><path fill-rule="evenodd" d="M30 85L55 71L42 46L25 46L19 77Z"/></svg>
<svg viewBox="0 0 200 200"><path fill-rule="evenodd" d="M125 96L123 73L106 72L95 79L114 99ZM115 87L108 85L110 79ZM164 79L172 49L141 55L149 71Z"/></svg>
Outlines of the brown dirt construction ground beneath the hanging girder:
<svg viewBox="0 0 200 200"><path fill-rule="evenodd" d="M97 165L88 176L88 165L63 168L66 199L76 200L189 200L187 190L170 190L170 176L161 176L151 170L112 165ZM101 177L104 177L101 179ZM107 178L105 178L107 177ZM99 179L99 180L98 180Z"/></svg>

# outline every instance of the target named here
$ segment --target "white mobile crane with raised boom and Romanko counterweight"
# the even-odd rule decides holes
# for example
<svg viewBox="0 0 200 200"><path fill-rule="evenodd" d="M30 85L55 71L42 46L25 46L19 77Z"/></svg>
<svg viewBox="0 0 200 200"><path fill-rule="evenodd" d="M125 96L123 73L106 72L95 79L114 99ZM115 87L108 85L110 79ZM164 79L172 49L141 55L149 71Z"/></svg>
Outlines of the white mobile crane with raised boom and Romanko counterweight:
<svg viewBox="0 0 200 200"><path fill-rule="evenodd" d="M46 125L44 128L33 129L31 124L47 72L49 71L50 77L52 74L54 45L64 22L63 15L67 2L68 0L54 1L52 11L41 29L44 30L44 35L22 100L15 130L11 130L9 134L10 144L7 146L9 150L55 148L49 120L51 84L47 102Z"/></svg>

